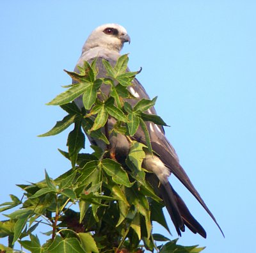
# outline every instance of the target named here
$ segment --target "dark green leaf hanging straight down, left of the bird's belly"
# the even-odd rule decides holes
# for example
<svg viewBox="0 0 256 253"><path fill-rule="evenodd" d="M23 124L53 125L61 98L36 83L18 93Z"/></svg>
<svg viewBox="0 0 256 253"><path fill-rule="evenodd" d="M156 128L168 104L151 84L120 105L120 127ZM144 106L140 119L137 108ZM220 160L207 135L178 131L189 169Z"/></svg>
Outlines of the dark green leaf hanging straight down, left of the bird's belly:
<svg viewBox="0 0 256 253"><path fill-rule="evenodd" d="M73 168L76 165L77 154L82 148L84 148L84 141L85 141L85 137L83 132L81 131L81 123L76 122L74 130L72 130L68 134L68 141L67 141L68 154L69 154L70 161Z"/></svg>

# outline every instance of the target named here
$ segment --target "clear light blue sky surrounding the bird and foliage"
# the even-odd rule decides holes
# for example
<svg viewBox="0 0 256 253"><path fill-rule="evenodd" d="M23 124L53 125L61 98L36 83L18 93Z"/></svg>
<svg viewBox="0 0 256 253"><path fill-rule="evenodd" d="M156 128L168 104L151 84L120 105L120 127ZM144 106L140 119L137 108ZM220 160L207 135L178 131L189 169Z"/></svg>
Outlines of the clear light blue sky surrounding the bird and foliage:
<svg viewBox="0 0 256 253"><path fill-rule="evenodd" d="M205 253L253 247L255 1L3 0L0 10L1 203L8 194L21 197L15 184L42 180L44 169L52 178L70 169L57 150L67 150L70 128L36 137L65 116L45 103L70 84L63 69L74 69L91 31L118 23L131 36L122 51L129 52L129 67L142 67L138 79L158 96L157 112L171 126L166 136L225 233L171 176L207 231L205 240L187 229L179 243L206 246ZM170 236L157 225L154 231Z"/></svg>

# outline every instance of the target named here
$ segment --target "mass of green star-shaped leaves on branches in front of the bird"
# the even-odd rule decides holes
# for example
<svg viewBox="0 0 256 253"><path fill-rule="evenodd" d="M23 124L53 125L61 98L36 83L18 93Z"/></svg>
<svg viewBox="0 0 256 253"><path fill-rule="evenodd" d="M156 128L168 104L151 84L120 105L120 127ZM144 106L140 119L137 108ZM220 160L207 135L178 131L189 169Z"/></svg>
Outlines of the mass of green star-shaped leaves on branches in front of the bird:
<svg viewBox="0 0 256 253"><path fill-rule="evenodd" d="M152 234L153 220L169 229L163 201L145 180L147 172L141 167L145 151L152 152L145 121L165 123L159 116L144 113L156 98L138 100L134 107L129 104L129 99L135 98L127 88L138 72L126 72L127 55L121 56L114 67L102 61L108 78L97 78L98 60L84 62L83 68L78 67L79 73L67 72L77 83L65 86L68 89L49 105L60 105L68 114L40 135L56 135L74 124L67 138L68 151L60 150L72 169L55 180L45 171L44 180L18 185L24 191L21 199L10 195L11 201L1 204L1 212L19 208L5 214L7 219L0 222L0 237L8 236L8 246L0 245L0 252L15 252L16 241L33 253L202 251L203 248L180 246L177 240ZM109 86L108 94L102 93L102 84ZM83 100L84 109L77 107L73 101L76 98ZM109 116L116 119L111 129ZM145 132L147 146L132 141L138 127ZM93 153L81 153L84 133L101 141L104 150L92 146ZM117 162L109 146L109 136L118 133L131 141L130 153L121 162ZM74 205L79 206L79 211L72 208ZM35 234L41 224L50 229L45 233L49 240L43 244Z"/></svg>

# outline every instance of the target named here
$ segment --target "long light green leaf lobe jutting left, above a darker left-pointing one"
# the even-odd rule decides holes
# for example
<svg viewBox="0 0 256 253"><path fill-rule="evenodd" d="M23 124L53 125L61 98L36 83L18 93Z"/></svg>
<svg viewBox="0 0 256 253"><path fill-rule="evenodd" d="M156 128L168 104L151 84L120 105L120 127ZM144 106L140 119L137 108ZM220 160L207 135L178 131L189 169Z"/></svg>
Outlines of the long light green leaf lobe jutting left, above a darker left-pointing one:
<svg viewBox="0 0 256 253"><path fill-rule="evenodd" d="M71 102L78 96L86 91L86 88L90 85L88 82L81 82L80 84L76 84L72 86L67 91L60 93L60 95L56 96L51 102L47 103L47 105L63 105Z"/></svg>

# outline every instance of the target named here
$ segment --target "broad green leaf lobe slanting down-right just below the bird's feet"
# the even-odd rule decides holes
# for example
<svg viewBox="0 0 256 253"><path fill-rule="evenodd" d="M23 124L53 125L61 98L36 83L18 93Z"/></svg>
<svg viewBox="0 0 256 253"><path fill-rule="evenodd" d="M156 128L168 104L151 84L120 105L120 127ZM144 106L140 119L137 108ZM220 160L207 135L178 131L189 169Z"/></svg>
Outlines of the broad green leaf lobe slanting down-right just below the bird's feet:
<svg viewBox="0 0 256 253"><path fill-rule="evenodd" d="M104 171L111 176L115 183L120 185L125 185L126 187L131 187L132 183L129 181L127 173L122 169L118 162L111 159L104 159L101 161L102 168Z"/></svg>

